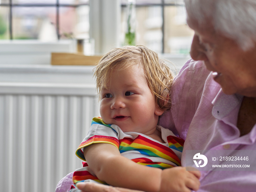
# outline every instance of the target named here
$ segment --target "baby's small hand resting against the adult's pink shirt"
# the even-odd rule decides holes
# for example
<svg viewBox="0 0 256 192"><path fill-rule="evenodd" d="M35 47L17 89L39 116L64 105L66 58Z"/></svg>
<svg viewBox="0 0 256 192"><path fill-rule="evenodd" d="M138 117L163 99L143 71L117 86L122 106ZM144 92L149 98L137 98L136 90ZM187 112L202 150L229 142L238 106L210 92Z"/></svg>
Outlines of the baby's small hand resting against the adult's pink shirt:
<svg viewBox="0 0 256 192"><path fill-rule="evenodd" d="M186 171L186 167L172 167L161 174L161 192L191 192L200 186L200 171Z"/></svg>

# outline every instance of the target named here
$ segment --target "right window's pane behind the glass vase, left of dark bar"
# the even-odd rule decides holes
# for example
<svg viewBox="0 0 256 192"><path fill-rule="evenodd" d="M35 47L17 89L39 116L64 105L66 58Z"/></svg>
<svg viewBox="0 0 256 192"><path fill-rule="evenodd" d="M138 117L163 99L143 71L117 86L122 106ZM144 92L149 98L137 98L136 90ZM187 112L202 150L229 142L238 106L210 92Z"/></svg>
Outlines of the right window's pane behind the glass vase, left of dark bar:
<svg viewBox="0 0 256 192"><path fill-rule="evenodd" d="M126 7L122 8L122 42L125 36ZM161 6L136 7L136 45L162 52Z"/></svg>

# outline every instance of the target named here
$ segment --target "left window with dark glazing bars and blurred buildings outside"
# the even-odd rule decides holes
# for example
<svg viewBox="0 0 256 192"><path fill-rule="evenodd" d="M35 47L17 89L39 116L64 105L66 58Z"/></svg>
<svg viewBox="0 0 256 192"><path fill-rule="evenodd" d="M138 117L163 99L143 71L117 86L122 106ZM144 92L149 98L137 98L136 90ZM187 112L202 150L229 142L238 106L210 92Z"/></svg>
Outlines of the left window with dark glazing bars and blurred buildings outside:
<svg viewBox="0 0 256 192"><path fill-rule="evenodd" d="M0 0L0 39L70 37L89 37L89 0Z"/></svg>

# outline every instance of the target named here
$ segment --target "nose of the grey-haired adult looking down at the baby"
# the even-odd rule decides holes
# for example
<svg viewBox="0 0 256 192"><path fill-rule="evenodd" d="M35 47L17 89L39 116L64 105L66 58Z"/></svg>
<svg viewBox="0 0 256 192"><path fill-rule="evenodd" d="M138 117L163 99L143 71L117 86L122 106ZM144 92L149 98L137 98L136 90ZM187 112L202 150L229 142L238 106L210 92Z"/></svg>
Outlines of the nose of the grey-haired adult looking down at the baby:
<svg viewBox="0 0 256 192"><path fill-rule="evenodd" d="M190 55L193 60L207 60L207 56L205 54L206 48L200 44L198 35L194 34Z"/></svg>

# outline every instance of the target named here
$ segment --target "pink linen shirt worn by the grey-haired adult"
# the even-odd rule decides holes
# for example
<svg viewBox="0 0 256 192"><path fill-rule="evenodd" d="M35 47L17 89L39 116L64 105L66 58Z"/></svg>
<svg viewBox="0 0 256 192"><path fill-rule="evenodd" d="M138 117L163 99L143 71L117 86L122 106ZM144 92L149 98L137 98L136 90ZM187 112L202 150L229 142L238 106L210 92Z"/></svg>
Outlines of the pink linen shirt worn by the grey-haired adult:
<svg viewBox="0 0 256 192"><path fill-rule="evenodd" d="M160 119L160 125L185 139L186 150L256 150L256 125L240 137L236 127L241 95L226 95L212 79L202 61L189 60L181 68L172 87L172 109ZM256 153L256 151L255 151ZM255 171L201 171L198 192L255 192ZM69 191L69 174L57 185L57 192Z"/></svg>

